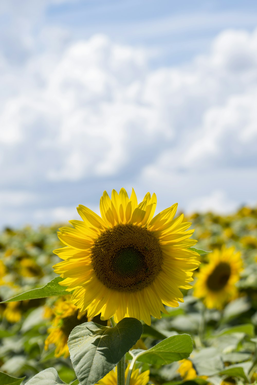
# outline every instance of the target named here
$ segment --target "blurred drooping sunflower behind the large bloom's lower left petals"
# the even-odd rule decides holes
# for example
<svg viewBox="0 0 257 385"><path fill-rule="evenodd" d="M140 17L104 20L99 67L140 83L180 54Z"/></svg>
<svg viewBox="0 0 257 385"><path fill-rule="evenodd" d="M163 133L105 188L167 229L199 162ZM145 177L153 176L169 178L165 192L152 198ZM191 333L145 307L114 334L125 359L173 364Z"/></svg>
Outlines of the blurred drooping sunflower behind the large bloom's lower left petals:
<svg viewBox="0 0 257 385"><path fill-rule="evenodd" d="M87 322L85 313L81 313L77 306L70 301L71 296L63 296L56 301L52 314L52 326L47 330L49 336L45 340L45 350L49 348L50 344L56 346L55 357L64 356L69 357L68 338L72 329L83 322ZM45 316L52 315L49 308L46 307Z"/></svg>

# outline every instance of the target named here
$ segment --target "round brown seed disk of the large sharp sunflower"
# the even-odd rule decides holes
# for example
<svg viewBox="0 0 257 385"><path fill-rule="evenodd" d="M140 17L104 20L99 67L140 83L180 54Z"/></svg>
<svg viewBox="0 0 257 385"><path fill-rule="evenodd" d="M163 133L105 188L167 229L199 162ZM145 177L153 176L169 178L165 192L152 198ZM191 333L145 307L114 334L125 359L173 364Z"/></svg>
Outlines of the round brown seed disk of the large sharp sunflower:
<svg viewBox="0 0 257 385"><path fill-rule="evenodd" d="M97 278L117 291L139 291L150 285L163 261L153 233L132 224L118 224L101 234L92 248Z"/></svg>

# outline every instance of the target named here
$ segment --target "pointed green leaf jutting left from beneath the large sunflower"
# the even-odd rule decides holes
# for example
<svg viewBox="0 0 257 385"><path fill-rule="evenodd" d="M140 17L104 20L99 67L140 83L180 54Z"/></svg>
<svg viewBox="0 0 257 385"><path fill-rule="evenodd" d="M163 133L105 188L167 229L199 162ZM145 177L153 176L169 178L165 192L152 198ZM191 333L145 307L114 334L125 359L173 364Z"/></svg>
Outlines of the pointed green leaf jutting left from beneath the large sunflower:
<svg viewBox="0 0 257 385"><path fill-rule="evenodd" d="M65 290L65 287L59 285L60 281L62 281L62 278L56 277L42 288L25 291L25 293L15 295L15 297L9 298L8 300L2 301L0 303L33 300L35 298L45 298L55 295L67 295L69 293L71 294L71 292Z"/></svg>

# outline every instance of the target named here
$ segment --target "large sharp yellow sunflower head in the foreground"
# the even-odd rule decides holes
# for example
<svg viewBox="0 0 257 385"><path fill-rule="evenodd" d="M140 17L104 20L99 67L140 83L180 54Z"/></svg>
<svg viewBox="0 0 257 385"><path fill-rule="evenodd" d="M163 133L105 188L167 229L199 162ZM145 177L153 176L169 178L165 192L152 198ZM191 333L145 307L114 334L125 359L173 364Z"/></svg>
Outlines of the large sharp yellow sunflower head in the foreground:
<svg viewBox="0 0 257 385"><path fill-rule="evenodd" d="M65 248L54 251L64 261L54 266L64 280L60 285L73 291L72 302L89 318L114 316L144 320L167 313L163 304L183 302L180 288L189 289L198 254L188 249L197 241L188 239L191 223L183 214L173 219L177 204L153 218L156 195L148 192L138 204L132 190L106 191L100 199L101 216L85 206L77 208L83 221L70 221L74 228L60 228Z"/></svg>

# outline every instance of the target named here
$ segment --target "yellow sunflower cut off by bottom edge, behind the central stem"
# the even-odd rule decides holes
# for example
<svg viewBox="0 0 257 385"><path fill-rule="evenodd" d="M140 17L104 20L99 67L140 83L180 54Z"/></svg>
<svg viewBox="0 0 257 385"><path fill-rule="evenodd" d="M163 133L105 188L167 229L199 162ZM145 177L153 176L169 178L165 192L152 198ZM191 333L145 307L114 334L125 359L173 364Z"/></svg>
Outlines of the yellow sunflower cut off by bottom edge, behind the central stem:
<svg viewBox="0 0 257 385"><path fill-rule="evenodd" d="M126 371L125 371L125 381L127 379L128 371L129 371L129 366L126 368ZM149 373L150 373L149 370L139 373L139 369L134 369L131 373L129 385L146 385L149 381ZM111 370L111 372L106 374L104 378L98 381L97 385L117 385L116 368L114 370Z"/></svg>

